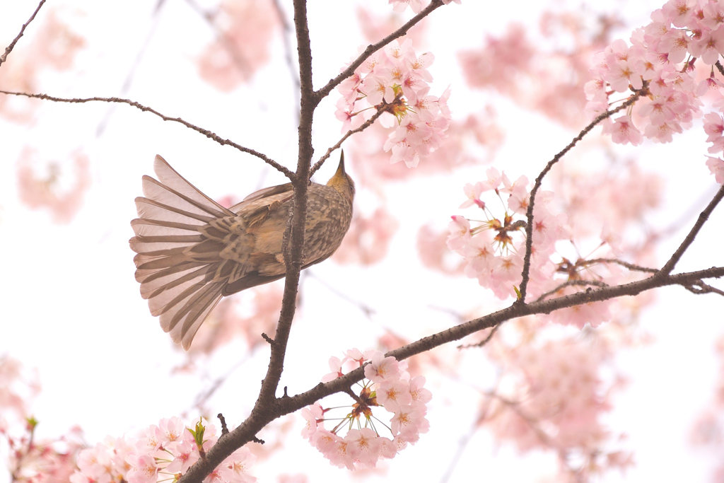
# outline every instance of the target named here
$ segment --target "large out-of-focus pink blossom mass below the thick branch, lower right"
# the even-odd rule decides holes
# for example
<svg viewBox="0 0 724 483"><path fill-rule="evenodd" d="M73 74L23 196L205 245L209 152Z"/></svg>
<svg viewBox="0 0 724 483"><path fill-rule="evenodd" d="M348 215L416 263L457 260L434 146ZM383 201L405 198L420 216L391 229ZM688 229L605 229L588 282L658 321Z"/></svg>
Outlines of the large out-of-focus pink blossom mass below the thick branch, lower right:
<svg viewBox="0 0 724 483"><path fill-rule="evenodd" d="M502 373L481 422L498 440L513 442L521 452L555 450L561 471L576 476L633 464L631 453L612 445L602 421L613 392L625 382L600 374L612 356L605 340L564 338L516 347L498 340L489 354Z"/></svg>

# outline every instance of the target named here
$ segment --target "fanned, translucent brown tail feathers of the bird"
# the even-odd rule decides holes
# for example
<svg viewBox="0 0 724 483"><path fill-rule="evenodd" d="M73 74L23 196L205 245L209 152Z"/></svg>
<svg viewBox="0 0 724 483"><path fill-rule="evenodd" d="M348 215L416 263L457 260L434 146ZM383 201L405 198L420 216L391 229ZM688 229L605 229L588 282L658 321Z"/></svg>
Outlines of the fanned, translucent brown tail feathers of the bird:
<svg viewBox="0 0 724 483"><path fill-rule="evenodd" d="M135 199L138 219L131 222L135 237L130 246L138 253L135 278L151 314L160 316L164 331L188 350L228 281L218 277L224 265L220 248L209 249L216 242L200 229L235 214L197 190L161 156L153 168L160 182L143 177L144 197Z"/></svg>

